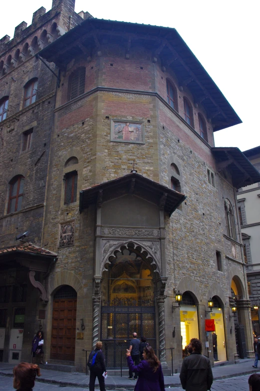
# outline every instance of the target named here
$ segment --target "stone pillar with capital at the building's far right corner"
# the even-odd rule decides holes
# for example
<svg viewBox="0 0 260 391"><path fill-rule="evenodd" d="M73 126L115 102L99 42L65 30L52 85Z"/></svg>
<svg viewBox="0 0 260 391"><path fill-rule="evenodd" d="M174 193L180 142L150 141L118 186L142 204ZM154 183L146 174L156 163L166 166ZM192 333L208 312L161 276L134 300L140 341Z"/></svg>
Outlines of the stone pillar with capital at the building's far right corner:
<svg viewBox="0 0 260 391"><path fill-rule="evenodd" d="M239 322L244 325L247 355L248 358L254 358L254 347L253 347L253 328L251 320L251 302L247 299L237 301Z"/></svg>

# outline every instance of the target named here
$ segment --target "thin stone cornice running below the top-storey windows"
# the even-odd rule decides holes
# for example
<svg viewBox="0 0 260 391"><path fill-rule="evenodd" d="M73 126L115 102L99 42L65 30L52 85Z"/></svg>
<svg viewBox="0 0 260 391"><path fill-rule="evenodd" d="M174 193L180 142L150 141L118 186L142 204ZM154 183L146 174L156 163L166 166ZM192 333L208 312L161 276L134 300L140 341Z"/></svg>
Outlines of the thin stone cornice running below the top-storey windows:
<svg viewBox="0 0 260 391"><path fill-rule="evenodd" d="M117 92L117 93L122 93L122 94L136 94L136 95L148 95L148 96L154 96L155 98L159 99L170 111L172 111L186 126L187 128L189 128L209 149L211 149L212 147L210 146L210 144L207 143L207 141L205 141L201 135L199 135L198 132L196 132L195 129L193 129L185 120L184 118L182 118L182 116L176 111L174 110L167 102L166 100L164 100L161 95L158 94L158 92L154 92L154 91L141 91L141 90L128 90L128 89L124 89L124 88L109 88L109 87L95 87L93 88L92 90L90 91L87 91L85 92L84 94L80 95L80 96L77 96L76 98L70 100L69 102L66 102L64 103L63 105L59 106L59 107L56 107L54 109L54 112L57 112L59 110L62 110L63 108L71 105L72 103L75 103L81 99L84 99L86 98L87 96L90 96L90 95L93 95L95 94L96 92Z"/></svg>

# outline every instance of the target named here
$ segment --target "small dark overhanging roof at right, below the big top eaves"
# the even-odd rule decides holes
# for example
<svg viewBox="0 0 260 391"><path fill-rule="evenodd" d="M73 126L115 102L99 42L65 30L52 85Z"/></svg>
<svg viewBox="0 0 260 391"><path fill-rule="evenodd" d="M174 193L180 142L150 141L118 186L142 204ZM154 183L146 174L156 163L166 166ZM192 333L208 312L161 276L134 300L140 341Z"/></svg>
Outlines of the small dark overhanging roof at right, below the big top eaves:
<svg viewBox="0 0 260 391"><path fill-rule="evenodd" d="M220 172L226 168L231 172L235 188L260 182L260 173L239 148L216 147L212 148L212 153L218 163L217 170Z"/></svg>

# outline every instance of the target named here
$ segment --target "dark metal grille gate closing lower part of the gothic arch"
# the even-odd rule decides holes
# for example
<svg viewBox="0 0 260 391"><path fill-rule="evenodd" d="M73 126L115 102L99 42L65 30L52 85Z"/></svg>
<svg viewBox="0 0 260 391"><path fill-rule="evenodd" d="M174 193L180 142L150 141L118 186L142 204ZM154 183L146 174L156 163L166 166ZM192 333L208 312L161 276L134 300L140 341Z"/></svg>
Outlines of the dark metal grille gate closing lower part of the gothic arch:
<svg viewBox="0 0 260 391"><path fill-rule="evenodd" d="M120 352L129 348L134 332L156 348L155 307L101 307L101 340L107 368L120 368ZM123 354L123 362L124 359Z"/></svg>

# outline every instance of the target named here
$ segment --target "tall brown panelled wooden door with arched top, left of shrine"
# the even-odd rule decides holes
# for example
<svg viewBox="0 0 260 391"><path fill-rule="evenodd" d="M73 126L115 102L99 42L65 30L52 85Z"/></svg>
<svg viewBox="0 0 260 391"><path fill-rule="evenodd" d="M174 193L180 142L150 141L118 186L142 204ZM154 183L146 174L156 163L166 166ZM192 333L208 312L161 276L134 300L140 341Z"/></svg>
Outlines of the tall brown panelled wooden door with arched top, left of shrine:
<svg viewBox="0 0 260 391"><path fill-rule="evenodd" d="M50 358L74 361L76 337L77 292L69 285L54 295Z"/></svg>

